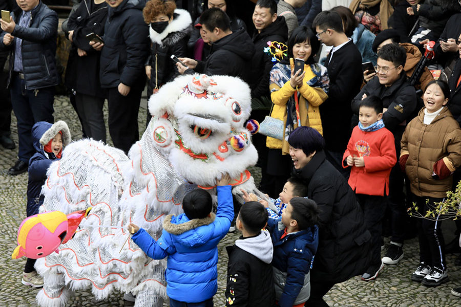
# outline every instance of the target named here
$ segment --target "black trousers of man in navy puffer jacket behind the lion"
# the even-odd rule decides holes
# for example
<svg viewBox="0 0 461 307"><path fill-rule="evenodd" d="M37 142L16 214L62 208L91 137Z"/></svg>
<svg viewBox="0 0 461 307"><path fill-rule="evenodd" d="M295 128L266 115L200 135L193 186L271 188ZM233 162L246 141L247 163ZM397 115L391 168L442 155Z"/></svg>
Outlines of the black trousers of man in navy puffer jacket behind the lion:
<svg viewBox="0 0 461 307"><path fill-rule="evenodd" d="M109 109L109 134L114 146L128 154L131 145L139 140L138 112L142 89L131 89L127 96L118 87L107 91Z"/></svg>

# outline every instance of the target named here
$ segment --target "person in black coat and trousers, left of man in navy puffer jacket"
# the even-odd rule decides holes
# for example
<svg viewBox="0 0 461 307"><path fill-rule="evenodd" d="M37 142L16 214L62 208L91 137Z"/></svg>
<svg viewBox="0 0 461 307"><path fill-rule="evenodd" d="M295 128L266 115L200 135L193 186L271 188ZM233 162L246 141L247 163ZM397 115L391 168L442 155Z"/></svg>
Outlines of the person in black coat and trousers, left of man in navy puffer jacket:
<svg viewBox="0 0 461 307"><path fill-rule="evenodd" d="M99 81L100 51L90 46L88 34L101 37L107 19L104 0L85 0L71 13L67 24L72 49L66 70L66 85L75 95L77 112L85 134L89 138L106 142L104 124L104 91Z"/></svg>

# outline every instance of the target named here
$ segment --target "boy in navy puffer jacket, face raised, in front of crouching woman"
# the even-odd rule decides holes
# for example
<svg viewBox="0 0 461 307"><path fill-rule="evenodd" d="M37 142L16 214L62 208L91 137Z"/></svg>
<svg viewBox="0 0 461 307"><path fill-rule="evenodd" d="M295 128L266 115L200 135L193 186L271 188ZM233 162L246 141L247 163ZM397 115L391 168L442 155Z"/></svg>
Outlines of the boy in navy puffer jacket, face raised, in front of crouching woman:
<svg viewBox="0 0 461 307"><path fill-rule="evenodd" d="M314 201L294 197L281 217L267 221L274 244L276 300L281 307L301 307L310 296L309 271L319 245L319 228L315 225L319 213Z"/></svg>

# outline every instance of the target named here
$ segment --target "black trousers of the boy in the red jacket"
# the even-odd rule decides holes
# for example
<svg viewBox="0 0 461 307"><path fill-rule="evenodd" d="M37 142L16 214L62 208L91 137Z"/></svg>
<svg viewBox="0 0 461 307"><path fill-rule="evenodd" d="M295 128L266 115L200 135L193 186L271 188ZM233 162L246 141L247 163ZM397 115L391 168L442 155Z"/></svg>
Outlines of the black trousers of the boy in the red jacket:
<svg viewBox="0 0 461 307"><path fill-rule="evenodd" d="M357 201L363 209L365 225L371 233L370 265L381 263L381 236L383 217L386 212L387 196L356 194Z"/></svg>

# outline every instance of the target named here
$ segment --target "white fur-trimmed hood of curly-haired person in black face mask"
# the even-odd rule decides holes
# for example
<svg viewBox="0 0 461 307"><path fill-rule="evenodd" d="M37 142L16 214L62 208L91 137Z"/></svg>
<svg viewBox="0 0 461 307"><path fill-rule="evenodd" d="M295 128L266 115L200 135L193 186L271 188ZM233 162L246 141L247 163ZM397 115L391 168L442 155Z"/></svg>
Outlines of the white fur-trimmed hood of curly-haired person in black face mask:
<svg viewBox="0 0 461 307"><path fill-rule="evenodd" d="M180 39L190 36L192 33L191 14L186 10L176 9L173 15L173 21L166 26L162 33L155 32L149 27L149 36L152 42L162 46L173 46Z"/></svg>

